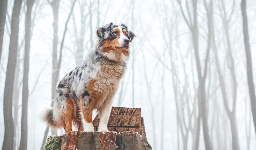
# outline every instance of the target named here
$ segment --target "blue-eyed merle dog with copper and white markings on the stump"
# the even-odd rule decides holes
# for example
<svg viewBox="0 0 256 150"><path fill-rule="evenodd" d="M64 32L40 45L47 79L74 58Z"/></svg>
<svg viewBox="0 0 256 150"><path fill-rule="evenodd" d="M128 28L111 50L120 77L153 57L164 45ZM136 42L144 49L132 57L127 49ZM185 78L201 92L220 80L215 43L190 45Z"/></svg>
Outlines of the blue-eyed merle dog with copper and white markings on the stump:
<svg viewBox="0 0 256 150"><path fill-rule="evenodd" d="M107 128L113 97L129 59L129 44L135 34L124 24L109 23L97 28L98 42L85 61L59 82L53 108L42 113L42 120L52 128L94 132L92 111L100 115L98 131Z"/></svg>

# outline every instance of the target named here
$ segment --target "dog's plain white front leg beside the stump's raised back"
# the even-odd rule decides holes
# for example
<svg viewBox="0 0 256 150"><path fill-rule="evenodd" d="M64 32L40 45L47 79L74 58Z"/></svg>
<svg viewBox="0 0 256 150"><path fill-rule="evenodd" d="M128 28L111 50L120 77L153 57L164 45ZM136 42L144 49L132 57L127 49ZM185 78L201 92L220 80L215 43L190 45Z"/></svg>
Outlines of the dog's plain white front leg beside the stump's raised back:
<svg viewBox="0 0 256 150"><path fill-rule="evenodd" d="M110 111L111 111L112 102L113 102L113 99L111 99L109 101L105 101L104 105L99 110L100 123L99 123L98 132L109 132L108 121L109 121L109 115L110 115Z"/></svg>

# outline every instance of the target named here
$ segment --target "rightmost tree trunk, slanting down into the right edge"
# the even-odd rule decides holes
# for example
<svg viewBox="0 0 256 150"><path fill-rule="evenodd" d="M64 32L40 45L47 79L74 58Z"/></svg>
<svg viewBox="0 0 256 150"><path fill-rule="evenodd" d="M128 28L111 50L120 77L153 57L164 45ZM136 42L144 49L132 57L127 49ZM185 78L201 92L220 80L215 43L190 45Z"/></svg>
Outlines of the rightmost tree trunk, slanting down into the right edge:
<svg viewBox="0 0 256 150"><path fill-rule="evenodd" d="M246 14L246 0L242 0L241 2L242 9L242 17L243 17L243 37L244 37L244 47L246 53L246 65L247 65L247 81L249 87L249 94L251 99L251 110L252 117L254 123L254 130L256 133L256 96L253 82L253 74L252 74L252 57L251 57L251 49L249 44L249 34L248 34L248 22L247 22L247 14Z"/></svg>

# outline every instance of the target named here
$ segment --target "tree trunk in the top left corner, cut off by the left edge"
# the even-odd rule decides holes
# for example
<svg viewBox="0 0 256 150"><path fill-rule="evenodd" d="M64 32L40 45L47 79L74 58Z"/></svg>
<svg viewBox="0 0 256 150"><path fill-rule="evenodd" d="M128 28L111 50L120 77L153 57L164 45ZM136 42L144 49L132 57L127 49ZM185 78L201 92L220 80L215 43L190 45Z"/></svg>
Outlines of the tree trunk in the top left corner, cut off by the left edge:
<svg viewBox="0 0 256 150"><path fill-rule="evenodd" d="M3 48L6 10L7 10L7 0L1 0L0 1L0 62L1 62L1 55L2 55L2 48Z"/></svg>

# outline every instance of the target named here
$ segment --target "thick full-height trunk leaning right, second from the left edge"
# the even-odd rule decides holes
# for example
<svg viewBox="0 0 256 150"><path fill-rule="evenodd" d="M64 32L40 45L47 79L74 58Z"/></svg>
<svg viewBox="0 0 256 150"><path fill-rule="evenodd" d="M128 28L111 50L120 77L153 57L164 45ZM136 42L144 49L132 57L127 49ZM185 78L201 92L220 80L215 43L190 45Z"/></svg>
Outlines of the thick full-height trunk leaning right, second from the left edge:
<svg viewBox="0 0 256 150"><path fill-rule="evenodd" d="M19 14L22 0L15 0L11 21L9 55L4 88L4 142L2 149L13 149L14 124L12 115L13 85L19 33Z"/></svg>

